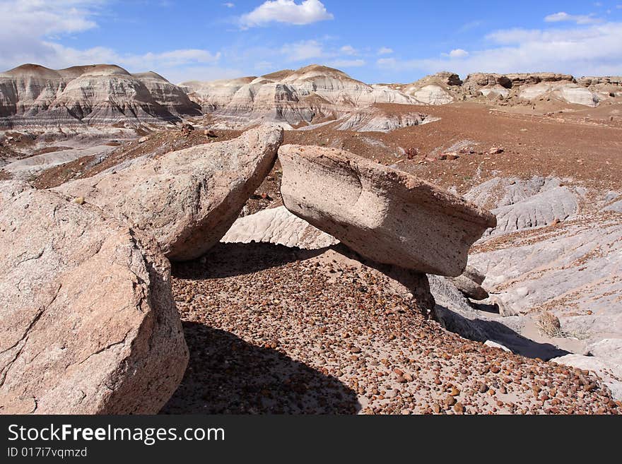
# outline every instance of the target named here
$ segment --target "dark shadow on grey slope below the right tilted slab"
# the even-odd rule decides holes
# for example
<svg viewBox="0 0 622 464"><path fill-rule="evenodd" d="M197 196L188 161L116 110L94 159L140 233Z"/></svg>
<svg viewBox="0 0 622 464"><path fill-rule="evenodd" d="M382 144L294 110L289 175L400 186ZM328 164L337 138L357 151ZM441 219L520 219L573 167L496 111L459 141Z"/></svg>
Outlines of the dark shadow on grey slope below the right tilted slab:
<svg viewBox="0 0 622 464"><path fill-rule="evenodd" d="M517 355L530 358L537 357L548 361L548 359L553 359L554 357L571 354L550 343L538 343L524 337L503 323L486 319L467 319L440 304L436 305L435 314L436 319L441 321L448 331L457 333L464 338L469 338L469 340L478 342L491 340L500 343Z"/></svg>

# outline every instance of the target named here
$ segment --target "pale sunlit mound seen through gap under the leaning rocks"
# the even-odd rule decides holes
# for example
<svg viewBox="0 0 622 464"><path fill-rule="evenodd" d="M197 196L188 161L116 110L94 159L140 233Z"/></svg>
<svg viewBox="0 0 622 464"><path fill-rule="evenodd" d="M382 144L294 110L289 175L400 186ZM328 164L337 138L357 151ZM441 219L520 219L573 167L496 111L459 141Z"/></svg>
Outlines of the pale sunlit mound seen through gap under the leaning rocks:
<svg viewBox="0 0 622 464"><path fill-rule="evenodd" d="M279 206L236 220L221 242L271 243L315 250L338 244L339 240Z"/></svg>

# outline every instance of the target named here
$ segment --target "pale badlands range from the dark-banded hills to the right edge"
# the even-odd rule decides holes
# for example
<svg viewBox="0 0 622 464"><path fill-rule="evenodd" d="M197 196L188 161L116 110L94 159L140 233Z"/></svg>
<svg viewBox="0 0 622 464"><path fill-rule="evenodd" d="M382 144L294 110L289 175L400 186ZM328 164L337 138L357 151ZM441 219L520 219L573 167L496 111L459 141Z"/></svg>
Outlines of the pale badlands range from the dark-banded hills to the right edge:
<svg viewBox="0 0 622 464"><path fill-rule="evenodd" d="M392 131L429 122L423 114L394 112L380 104L446 105L475 100L500 107L547 110L597 107L622 96L622 78L579 78L558 73L474 73L462 81L450 72L410 84L366 84L338 69L313 64L265 76L180 84L191 100L212 114L218 127L241 129L274 122L286 129Z"/></svg>

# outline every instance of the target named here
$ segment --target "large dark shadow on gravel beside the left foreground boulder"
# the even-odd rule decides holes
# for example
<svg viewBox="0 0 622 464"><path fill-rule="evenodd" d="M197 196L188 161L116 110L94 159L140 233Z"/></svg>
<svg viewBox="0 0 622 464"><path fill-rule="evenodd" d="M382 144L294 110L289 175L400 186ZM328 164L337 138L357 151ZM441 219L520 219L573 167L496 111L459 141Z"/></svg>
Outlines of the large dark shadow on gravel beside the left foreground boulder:
<svg viewBox="0 0 622 464"><path fill-rule="evenodd" d="M161 414L353 414L356 392L267 347L184 322L190 360Z"/></svg>

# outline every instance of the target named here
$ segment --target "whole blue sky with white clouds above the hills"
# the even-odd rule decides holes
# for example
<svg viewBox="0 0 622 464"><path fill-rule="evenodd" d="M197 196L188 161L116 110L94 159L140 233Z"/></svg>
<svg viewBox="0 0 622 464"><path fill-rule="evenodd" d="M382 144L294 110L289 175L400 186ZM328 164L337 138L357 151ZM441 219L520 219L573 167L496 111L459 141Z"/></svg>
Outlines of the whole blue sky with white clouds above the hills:
<svg viewBox="0 0 622 464"><path fill-rule="evenodd" d="M0 69L115 63L175 83L306 64L362 81L622 74L622 0L0 0Z"/></svg>

